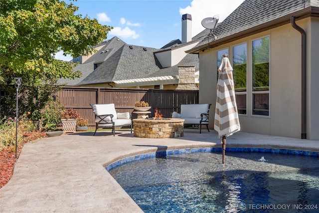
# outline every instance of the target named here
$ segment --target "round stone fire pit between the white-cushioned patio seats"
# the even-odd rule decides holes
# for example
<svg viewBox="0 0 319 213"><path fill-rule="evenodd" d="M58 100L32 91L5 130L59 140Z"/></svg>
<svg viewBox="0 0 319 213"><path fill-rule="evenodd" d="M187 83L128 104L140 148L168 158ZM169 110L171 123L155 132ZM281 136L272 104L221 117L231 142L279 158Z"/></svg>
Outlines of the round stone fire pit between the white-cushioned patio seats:
<svg viewBox="0 0 319 213"><path fill-rule="evenodd" d="M177 138L184 135L184 119L133 119L134 137Z"/></svg>

